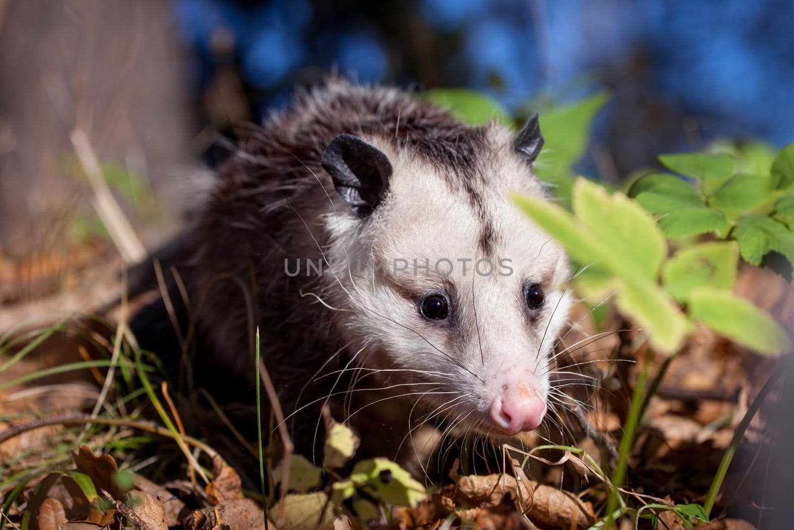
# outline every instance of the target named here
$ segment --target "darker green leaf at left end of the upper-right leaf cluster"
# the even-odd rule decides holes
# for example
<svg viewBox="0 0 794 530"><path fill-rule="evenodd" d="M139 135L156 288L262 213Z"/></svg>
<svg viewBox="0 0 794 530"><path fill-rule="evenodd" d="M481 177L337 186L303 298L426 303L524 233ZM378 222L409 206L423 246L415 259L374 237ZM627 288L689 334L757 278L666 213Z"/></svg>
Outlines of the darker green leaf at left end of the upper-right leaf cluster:
<svg viewBox="0 0 794 530"><path fill-rule="evenodd" d="M651 173L631 185L628 195L652 214L669 214L683 207L703 207L703 198L687 181L669 173Z"/></svg>

